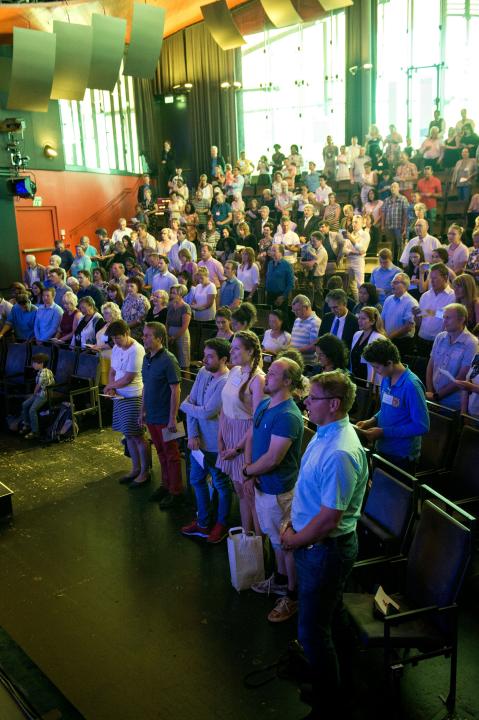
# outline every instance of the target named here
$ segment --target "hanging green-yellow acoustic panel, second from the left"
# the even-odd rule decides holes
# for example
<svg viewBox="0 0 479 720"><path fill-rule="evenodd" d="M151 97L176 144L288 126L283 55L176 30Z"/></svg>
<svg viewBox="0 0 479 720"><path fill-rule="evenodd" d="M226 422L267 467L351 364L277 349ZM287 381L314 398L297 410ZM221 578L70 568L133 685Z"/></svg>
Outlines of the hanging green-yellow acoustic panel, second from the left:
<svg viewBox="0 0 479 720"><path fill-rule="evenodd" d="M93 33L89 25L53 21L57 36L53 100L83 100L90 75Z"/></svg>

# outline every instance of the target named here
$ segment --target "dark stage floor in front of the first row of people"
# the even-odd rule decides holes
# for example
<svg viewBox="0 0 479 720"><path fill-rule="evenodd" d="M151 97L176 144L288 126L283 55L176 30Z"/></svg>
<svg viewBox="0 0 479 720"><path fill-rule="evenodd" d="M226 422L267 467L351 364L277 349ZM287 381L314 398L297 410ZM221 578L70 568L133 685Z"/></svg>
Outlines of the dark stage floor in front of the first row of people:
<svg viewBox="0 0 479 720"><path fill-rule="evenodd" d="M271 600L231 587L226 544L183 538L192 510L148 502L157 483L118 485L127 468L109 430L53 447L0 435L0 477L15 491L14 522L0 530L0 626L87 720L307 715L292 685L242 682L283 651L294 621L269 624ZM479 718L477 602L468 607L459 709ZM440 659L406 673L405 718L441 716L447 671ZM362 672L375 680L354 717L372 718L375 660Z"/></svg>

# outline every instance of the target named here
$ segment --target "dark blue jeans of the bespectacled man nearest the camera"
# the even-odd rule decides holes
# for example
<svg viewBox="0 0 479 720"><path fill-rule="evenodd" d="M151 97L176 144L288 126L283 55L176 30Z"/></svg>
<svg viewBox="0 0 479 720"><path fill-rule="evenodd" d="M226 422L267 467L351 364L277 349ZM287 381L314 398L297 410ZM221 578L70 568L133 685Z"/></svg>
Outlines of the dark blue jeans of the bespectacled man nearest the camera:
<svg viewBox="0 0 479 720"><path fill-rule="evenodd" d="M336 651L341 659L347 657L349 637L342 597L357 554L356 532L326 538L309 550L300 548L294 553L299 591L298 640L311 663L313 710L321 709L325 717L337 709L339 700Z"/></svg>

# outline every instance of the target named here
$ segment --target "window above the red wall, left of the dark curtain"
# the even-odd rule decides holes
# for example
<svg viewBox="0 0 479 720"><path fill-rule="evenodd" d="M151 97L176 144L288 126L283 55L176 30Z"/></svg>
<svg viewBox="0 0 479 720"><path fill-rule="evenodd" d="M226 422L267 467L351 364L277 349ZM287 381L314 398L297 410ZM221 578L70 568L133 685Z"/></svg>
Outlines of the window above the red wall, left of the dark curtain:
<svg viewBox="0 0 479 720"><path fill-rule="evenodd" d="M81 102L60 100L59 105L69 169L142 171L131 77L121 74L112 93L87 90Z"/></svg>

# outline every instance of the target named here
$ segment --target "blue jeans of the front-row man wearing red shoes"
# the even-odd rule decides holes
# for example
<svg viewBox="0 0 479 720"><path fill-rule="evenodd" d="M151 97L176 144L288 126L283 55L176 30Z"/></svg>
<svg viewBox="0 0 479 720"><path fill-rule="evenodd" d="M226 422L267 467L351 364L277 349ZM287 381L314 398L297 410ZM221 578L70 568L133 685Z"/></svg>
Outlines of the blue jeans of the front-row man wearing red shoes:
<svg viewBox="0 0 479 720"><path fill-rule="evenodd" d="M218 493L218 518L217 521L222 525L228 524L228 517L231 509L231 481L228 475L219 468L215 467L217 453L203 451L204 468L191 458L190 465L190 483L196 495L196 506L198 510L198 525L207 527L208 516L211 506L210 491L206 478L211 475L213 487Z"/></svg>

